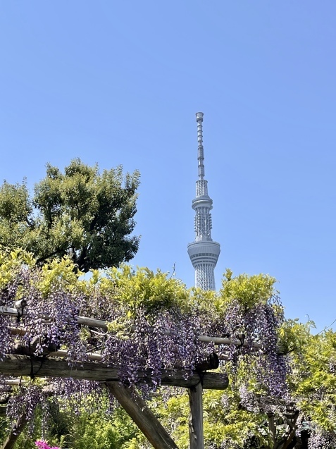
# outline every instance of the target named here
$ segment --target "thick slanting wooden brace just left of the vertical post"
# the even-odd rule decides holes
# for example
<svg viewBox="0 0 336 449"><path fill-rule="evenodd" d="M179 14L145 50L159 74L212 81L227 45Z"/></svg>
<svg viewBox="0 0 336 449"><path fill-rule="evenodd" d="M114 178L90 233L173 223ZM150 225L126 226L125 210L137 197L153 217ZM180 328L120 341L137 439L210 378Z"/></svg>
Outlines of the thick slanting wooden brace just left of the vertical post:
<svg viewBox="0 0 336 449"><path fill-rule="evenodd" d="M106 386L155 449L178 449L146 402L133 388L124 387L118 382L106 382Z"/></svg>

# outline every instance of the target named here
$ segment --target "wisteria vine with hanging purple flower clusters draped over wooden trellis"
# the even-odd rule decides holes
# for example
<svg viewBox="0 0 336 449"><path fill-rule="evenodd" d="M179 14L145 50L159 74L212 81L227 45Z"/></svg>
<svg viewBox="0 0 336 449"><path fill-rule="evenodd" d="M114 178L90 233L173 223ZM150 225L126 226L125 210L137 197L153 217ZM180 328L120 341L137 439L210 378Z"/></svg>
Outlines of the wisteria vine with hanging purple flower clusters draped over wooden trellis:
<svg viewBox="0 0 336 449"><path fill-rule="evenodd" d="M149 395L161 385L161 369L183 369L187 378L216 351L220 369L225 370L230 363L232 372L238 374L239 364L243 363L265 394L285 394L287 364L285 357L278 354L277 333L283 316L276 295L248 306L239 297L218 305L209 297L199 300L199 292L186 294L183 287L183 301L179 303L172 293L168 295L162 289L163 293L154 295L155 288L149 291L148 285L144 285L153 299L141 303L135 300L136 289L125 298L118 276L113 278L111 274L100 283L78 281L75 285L61 275L54 276L48 288L44 285L45 277L46 273L37 267L22 266L1 287L1 305L13 307L16 301L24 299L27 307L20 319L0 315L0 358L20 354L22 348L34 357L66 350L68 364L75 368L87 362L89 352L95 352L104 364L118 366L121 382ZM148 277L151 280L151 275ZM170 284L176 291L181 288L175 279L167 284L169 288ZM79 325L77 316L104 319L107 331ZM13 328L23 331L23 335L13 335ZM215 347L200 341L200 335L239 339L241 344ZM251 362L247 363L247 359ZM139 381L139 372L144 370L151 372L150 383ZM13 422L23 413L30 419L35 407L50 394L66 400L75 413L80 412L84 398L90 396L92 403L99 405L101 395L108 396L101 383L75 379L49 378L17 390L7 407ZM110 402L113 409L113 400Z"/></svg>

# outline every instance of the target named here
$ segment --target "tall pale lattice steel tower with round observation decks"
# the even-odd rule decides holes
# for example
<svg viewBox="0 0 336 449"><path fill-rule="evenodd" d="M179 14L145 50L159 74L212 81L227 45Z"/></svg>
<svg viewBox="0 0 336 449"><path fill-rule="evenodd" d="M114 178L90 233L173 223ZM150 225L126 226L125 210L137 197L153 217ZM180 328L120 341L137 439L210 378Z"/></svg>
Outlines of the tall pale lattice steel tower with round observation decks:
<svg viewBox="0 0 336 449"><path fill-rule="evenodd" d="M189 243L188 254L195 269L195 287L216 290L215 266L220 253L220 244L211 238L212 199L208 195L208 181L204 179L203 112L197 112L197 140L199 179L196 181L196 197L192 200L195 211L195 241Z"/></svg>

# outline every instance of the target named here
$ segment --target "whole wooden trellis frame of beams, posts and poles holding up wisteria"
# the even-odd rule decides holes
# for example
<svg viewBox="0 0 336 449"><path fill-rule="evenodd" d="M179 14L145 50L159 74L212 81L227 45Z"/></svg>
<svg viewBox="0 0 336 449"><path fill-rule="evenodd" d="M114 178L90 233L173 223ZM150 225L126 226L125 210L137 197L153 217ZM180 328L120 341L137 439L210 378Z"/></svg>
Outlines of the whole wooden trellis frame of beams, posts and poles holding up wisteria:
<svg viewBox="0 0 336 449"><path fill-rule="evenodd" d="M18 316L18 310L11 307L0 307L0 314L8 316ZM48 316L43 316L46 321ZM78 324L97 328L107 328L106 321L90 319L79 316ZM22 335L25 331L22 328L12 328L13 334ZM168 331L167 331L168 332ZM211 336L199 336L199 341L214 343L215 345L247 345L241 340L231 338L218 338ZM254 345L260 349L262 345ZM168 432L158 422L158 419L149 410L146 403L132 388L127 388L120 384L118 376L119 367L109 367L101 362L84 362L77 367L69 367L66 360L61 359L67 354L65 351L50 352L44 357L33 357L30 355L6 355L0 362L0 373L8 376L37 376L37 377L72 377L90 381L100 381L106 385L120 405L130 415L139 429L147 437L155 449L178 449ZM88 358L99 361L101 355L89 354ZM138 373L140 382L151 382L151 371L141 371ZM228 376L221 373L204 371L194 371L187 376L185 369L163 369L161 370L161 385L180 386L189 391L189 437L190 449L204 449L203 436L203 389L224 390L228 387ZM25 417L20 417L20 422L16 423L15 432L11 432L2 449L12 449L15 444L20 427L25 424Z"/></svg>

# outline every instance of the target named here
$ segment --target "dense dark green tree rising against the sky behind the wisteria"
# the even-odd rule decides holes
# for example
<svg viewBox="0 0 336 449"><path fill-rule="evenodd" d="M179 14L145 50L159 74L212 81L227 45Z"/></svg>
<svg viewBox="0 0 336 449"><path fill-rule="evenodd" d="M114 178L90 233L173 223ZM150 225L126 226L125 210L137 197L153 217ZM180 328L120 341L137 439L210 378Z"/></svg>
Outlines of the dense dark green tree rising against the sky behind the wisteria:
<svg viewBox="0 0 336 449"><path fill-rule="evenodd" d="M139 173L99 173L80 159L46 177L31 197L25 183L0 187L0 244L32 252L38 264L68 254L80 271L118 266L139 247L135 228Z"/></svg>

